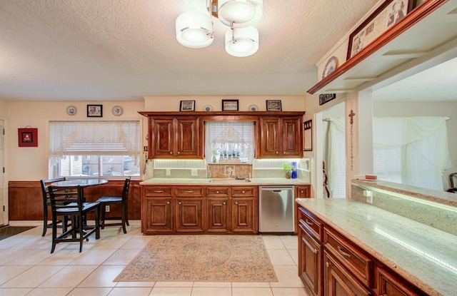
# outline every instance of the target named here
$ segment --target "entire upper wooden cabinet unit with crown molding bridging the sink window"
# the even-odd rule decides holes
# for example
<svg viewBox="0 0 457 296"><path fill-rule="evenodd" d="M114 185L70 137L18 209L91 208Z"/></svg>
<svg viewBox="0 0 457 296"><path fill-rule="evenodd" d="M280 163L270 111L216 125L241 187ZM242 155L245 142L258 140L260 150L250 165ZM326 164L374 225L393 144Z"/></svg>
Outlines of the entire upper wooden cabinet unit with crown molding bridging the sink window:
<svg viewBox="0 0 457 296"><path fill-rule="evenodd" d="M252 121L256 158L302 158L304 111L146 112L148 158L204 158L206 121Z"/></svg>

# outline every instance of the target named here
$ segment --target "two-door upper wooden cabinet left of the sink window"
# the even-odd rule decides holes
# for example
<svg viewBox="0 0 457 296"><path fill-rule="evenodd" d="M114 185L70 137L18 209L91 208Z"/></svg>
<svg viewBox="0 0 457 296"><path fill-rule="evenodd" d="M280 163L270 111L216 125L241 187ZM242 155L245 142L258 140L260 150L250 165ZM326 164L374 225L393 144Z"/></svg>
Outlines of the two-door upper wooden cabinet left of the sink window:
<svg viewBox="0 0 457 296"><path fill-rule="evenodd" d="M198 117L149 117L149 158L203 158Z"/></svg>

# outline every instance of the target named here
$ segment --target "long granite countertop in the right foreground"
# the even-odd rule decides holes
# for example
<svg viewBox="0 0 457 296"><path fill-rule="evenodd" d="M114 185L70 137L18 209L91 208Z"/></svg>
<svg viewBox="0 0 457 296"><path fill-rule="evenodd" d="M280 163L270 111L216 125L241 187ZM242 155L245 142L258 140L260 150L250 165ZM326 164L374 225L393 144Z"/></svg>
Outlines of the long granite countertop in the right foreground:
<svg viewBox="0 0 457 296"><path fill-rule="evenodd" d="M297 203L429 295L456 295L455 235L346 199Z"/></svg>

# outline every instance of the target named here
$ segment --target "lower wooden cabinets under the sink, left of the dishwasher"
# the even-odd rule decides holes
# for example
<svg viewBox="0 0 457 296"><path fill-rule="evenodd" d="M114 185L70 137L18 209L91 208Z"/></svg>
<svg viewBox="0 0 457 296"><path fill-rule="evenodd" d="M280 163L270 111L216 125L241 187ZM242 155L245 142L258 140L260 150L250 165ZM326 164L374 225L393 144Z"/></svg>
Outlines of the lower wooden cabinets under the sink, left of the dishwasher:
<svg viewBox="0 0 457 296"><path fill-rule="evenodd" d="M141 232L146 235L258 231L257 186L143 185L141 191Z"/></svg>

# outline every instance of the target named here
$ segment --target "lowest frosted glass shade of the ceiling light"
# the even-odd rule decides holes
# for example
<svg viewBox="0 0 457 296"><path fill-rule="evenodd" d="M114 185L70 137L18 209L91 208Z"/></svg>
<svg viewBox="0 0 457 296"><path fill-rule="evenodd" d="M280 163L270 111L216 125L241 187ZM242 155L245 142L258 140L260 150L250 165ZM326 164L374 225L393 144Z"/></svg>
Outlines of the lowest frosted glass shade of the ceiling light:
<svg viewBox="0 0 457 296"><path fill-rule="evenodd" d="M253 26L229 29L226 32L226 52L231 56L251 56L258 50L258 31Z"/></svg>

